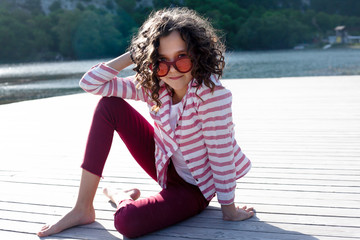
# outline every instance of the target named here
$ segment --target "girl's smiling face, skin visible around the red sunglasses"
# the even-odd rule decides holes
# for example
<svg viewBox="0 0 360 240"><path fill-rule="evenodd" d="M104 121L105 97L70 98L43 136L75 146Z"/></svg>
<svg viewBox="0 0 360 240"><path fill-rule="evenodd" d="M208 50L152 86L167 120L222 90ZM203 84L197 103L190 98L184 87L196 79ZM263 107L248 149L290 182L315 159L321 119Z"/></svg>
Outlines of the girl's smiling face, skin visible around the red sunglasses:
<svg viewBox="0 0 360 240"><path fill-rule="evenodd" d="M161 37L158 49L159 61L173 62L178 58L187 56L186 47L186 43L178 31L173 31L168 36ZM177 101L185 96L187 86L192 78L191 69L186 73L181 73L174 66L170 66L167 75L160 77L162 81L174 89L173 100L175 98Z"/></svg>

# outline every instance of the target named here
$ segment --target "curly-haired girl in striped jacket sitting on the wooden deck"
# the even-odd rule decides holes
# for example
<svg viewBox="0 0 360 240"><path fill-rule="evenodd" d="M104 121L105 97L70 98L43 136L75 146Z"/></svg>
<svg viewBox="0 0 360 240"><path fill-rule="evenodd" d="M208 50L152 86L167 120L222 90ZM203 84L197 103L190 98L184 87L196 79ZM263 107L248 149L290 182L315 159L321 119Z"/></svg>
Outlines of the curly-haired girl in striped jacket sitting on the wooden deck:
<svg viewBox="0 0 360 240"><path fill-rule="evenodd" d="M123 235L138 237L194 216L215 194L224 220L253 216L252 208L234 204L236 180L251 164L234 138L231 93L219 81L224 50L210 23L194 11L164 9L142 25L129 52L90 69L80 86L104 97L94 113L78 200L38 235L95 221L93 199L114 131L163 189L143 199L138 189L122 197L104 189L118 204L115 227ZM132 63L135 76L117 77ZM147 103L155 127L125 98Z"/></svg>

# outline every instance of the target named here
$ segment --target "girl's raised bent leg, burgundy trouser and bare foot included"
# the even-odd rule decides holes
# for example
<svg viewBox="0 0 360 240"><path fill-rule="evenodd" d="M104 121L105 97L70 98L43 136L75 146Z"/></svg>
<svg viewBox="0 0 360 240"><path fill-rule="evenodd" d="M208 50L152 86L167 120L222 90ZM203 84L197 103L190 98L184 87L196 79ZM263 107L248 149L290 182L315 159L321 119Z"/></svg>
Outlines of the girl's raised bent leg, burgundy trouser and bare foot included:
<svg viewBox="0 0 360 240"><path fill-rule="evenodd" d="M95 221L93 200L110 151L114 130L126 140L124 142L127 146L133 146L129 150L137 156L137 160L141 160L140 165L152 177L156 177L152 126L123 99L102 98L95 110L89 132L82 164L84 170L75 207L57 223L45 225L38 232L39 236L48 236ZM141 151L136 146L142 146Z"/></svg>

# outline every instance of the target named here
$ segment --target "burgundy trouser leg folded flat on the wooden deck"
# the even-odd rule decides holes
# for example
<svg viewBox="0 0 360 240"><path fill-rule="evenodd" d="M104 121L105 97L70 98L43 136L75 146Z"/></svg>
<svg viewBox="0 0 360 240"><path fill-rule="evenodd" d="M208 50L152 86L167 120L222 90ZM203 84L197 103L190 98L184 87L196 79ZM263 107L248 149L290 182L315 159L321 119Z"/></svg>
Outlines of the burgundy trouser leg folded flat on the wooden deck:
<svg viewBox="0 0 360 240"><path fill-rule="evenodd" d="M115 214L115 228L129 238L139 237L190 218L209 202L197 186L182 180L170 165L168 187L155 196L123 200Z"/></svg>

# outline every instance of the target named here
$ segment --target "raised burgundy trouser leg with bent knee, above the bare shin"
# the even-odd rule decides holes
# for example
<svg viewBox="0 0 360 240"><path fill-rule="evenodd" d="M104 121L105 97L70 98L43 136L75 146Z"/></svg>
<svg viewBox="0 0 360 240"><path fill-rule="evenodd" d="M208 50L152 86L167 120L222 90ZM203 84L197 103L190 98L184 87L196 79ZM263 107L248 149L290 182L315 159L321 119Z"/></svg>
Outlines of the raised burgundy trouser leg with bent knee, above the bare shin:
<svg viewBox="0 0 360 240"><path fill-rule="evenodd" d="M95 111L82 167L101 176L114 130L139 163L156 180L154 128L125 100L102 98Z"/></svg>

